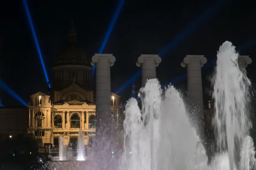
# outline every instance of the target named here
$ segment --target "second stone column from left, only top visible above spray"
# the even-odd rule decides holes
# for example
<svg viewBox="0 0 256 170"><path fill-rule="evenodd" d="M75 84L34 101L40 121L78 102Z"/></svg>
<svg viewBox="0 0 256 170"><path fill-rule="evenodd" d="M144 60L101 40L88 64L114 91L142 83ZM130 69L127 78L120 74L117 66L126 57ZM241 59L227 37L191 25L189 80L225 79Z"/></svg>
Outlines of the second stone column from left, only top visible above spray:
<svg viewBox="0 0 256 170"><path fill-rule="evenodd" d="M157 78L156 67L162 61L158 55L141 54L136 65L142 67L142 86L144 86L148 79Z"/></svg>

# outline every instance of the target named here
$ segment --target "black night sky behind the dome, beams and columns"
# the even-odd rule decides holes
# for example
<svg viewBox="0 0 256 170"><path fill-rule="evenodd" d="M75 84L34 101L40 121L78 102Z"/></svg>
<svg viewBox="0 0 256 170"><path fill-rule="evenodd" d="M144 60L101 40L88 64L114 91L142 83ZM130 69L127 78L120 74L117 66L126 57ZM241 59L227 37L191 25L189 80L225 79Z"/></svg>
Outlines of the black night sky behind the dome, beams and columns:
<svg viewBox="0 0 256 170"><path fill-rule="evenodd" d="M27 3L51 80L53 62L67 43L71 20L79 44L90 60L99 51L119 0L27 0ZM22 0L8 0L0 6L0 78L27 102L29 95L46 93L47 82ZM186 54L205 55L211 61L226 40L241 48L241 55L253 59L247 71L255 79L255 16L253 1L246 0L125 0L103 51L116 57L111 68L112 91L117 91L140 69L135 65L140 54L160 54L173 40L177 41L161 56L157 68L157 78L163 84L186 72L180 66ZM211 70L204 71L203 77ZM186 89L186 80L177 84L180 85ZM131 85L119 95L128 99ZM3 89L0 97L3 105L22 105Z"/></svg>

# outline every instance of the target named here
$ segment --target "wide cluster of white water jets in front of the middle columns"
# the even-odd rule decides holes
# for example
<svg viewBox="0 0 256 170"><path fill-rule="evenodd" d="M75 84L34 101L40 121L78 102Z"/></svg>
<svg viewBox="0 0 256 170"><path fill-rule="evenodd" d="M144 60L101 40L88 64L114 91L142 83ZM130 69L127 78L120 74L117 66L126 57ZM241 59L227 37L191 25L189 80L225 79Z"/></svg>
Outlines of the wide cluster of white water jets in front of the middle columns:
<svg viewBox="0 0 256 170"><path fill-rule="evenodd" d="M207 170L207 156L189 122L180 93L164 92L157 79L140 91L142 109L130 99L125 108L126 170Z"/></svg>

